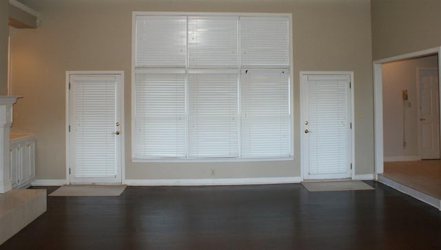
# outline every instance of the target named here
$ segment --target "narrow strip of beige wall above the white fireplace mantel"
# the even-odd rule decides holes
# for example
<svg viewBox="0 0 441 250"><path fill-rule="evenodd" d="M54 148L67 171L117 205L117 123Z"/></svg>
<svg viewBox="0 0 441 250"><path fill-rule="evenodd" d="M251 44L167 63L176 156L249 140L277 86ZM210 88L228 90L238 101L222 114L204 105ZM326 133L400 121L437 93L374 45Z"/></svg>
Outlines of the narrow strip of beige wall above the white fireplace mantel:
<svg viewBox="0 0 441 250"><path fill-rule="evenodd" d="M0 96L8 94L8 0L0 0Z"/></svg>

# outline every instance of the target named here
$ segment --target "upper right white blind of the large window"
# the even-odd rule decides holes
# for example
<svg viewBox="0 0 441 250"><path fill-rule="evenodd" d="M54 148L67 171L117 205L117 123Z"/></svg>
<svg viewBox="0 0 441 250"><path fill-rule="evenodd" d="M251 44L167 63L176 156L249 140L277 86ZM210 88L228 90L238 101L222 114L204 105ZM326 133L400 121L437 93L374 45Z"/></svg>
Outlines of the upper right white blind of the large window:
<svg viewBox="0 0 441 250"><path fill-rule="evenodd" d="M289 67L289 19L240 17L242 67Z"/></svg>

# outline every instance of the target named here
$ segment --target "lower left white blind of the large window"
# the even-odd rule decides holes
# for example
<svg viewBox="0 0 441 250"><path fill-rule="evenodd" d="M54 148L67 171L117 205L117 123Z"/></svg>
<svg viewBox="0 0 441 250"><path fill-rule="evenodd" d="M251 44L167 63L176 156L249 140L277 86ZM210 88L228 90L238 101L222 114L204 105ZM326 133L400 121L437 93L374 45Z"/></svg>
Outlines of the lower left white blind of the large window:
<svg viewBox="0 0 441 250"><path fill-rule="evenodd" d="M134 157L186 156L184 72L136 72Z"/></svg>

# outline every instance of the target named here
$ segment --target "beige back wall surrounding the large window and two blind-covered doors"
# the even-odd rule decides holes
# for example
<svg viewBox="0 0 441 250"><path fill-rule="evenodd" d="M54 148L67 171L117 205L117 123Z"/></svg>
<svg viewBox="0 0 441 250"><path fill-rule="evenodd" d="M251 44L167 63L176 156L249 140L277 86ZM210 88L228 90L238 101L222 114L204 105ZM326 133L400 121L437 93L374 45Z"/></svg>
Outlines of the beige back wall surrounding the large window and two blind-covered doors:
<svg viewBox="0 0 441 250"><path fill-rule="evenodd" d="M299 72L354 72L356 174L373 174L373 94L369 0L30 0L36 30L14 33L14 132L37 134L37 178L65 178L65 72L125 71L127 179L300 176ZM289 12L294 34L295 160L260 163L132 163L132 11Z"/></svg>

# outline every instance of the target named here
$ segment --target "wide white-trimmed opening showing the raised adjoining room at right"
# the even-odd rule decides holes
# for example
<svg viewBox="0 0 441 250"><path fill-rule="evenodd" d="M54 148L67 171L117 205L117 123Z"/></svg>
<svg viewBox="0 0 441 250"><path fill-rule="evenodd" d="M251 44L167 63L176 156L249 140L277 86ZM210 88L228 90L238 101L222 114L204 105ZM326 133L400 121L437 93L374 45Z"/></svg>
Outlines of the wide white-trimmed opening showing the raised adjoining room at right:
<svg viewBox="0 0 441 250"><path fill-rule="evenodd" d="M433 175L441 168L440 54L441 48L432 48L373 63L378 180L387 184L389 178L404 189L392 187L429 204L435 198L435 207L441 199L431 192L441 180ZM433 187L422 189L430 183Z"/></svg>

